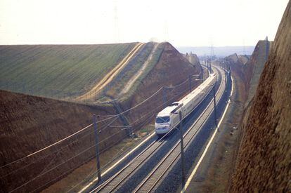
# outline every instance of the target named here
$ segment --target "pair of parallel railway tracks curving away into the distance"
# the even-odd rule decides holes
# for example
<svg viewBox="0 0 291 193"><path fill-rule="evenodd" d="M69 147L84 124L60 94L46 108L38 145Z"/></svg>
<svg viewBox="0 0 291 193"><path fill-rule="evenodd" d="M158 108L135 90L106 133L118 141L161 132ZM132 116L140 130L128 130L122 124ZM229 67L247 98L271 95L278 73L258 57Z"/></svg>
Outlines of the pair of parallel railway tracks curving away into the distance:
<svg viewBox="0 0 291 193"><path fill-rule="evenodd" d="M219 74L221 80L219 84L219 89L217 89L216 91L216 100L217 102L219 102L222 98L226 86L225 84L223 84L225 80L223 81L224 75L222 75L221 73L222 70L215 69L215 71L217 74ZM211 91L212 89L209 90L209 93ZM205 98L209 95L209 93L205 95ZM205 98L201 100L201 102L204 101ZM188 128L186 133L183 134L184 148L188 147L190 142L193 141L195 135L200 131L200 128L202 128L203 124L205 124L205 121L207 121L209 116L214 111L213 103L214 101L212 99L208 103L207 107L205 107L205 109L202 111L198 119L196 119L196 121L190 126L190 128ZM198 104L198 106L199 105L200 104ZM195 109L193 109L193 111ZM164 135L164 137L165 136L166 135ZM143 151L138 154L138 156L136 156L134 159L132 159L126 166L124 166L121 170L115 173L115 175L112 175L111 178L103 182L101 185L91 190L91 192L118 192L122 185L127 182L127 179L132 177L134 173L136 173L136 171L138 171L138 169L141 168L148 159L153 157L155 152L163 147L163 145L167 142L167 140L163 140L163 138L151 142L148 147L143 149ZM180 141L177 141L174 146L167 152L167 154L162 157L160 162L149 172L149 174L141 181L141 183L139 183L139 185L134 189L133 192L153 192L157 183L162 179L164 174L167 173L167 171L169 171L169 168L171 168L176 163L176 161L179 160L179 155L181 154L181 149L179 145Z"/></svg>

